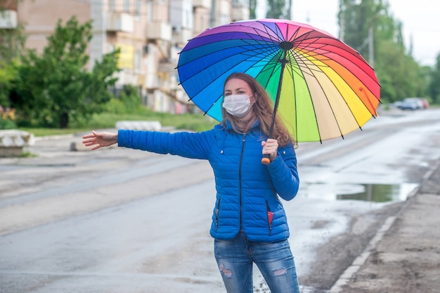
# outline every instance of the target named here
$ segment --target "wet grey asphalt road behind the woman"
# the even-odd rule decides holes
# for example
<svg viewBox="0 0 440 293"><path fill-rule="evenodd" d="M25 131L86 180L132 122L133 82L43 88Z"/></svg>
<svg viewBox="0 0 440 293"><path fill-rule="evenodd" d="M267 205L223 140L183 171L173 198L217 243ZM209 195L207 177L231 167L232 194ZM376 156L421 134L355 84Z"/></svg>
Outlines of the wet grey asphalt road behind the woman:
<svg viewBox="0 0 440 293"><path fill-rule="evenodd" d="M209 164L122 148L0 159L0 292L224 292L208 229ZM392 111L300 144L285 203L303 292L328 292L440 158L440 111ZM77 147L77 149L81 149ZM358 198L356 198L358 196ZM255 292L266 292L258 271Z"/></svg>

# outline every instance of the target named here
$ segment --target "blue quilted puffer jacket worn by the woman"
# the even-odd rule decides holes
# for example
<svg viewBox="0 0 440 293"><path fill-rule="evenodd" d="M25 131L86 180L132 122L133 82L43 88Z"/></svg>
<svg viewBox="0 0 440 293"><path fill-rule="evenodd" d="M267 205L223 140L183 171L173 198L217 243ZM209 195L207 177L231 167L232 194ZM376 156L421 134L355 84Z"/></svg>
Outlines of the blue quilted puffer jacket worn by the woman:
<svg viewBox="0 0 440 293"><path fill-rule="evenodd" d="M242 229L247 239L270 243L289 237L278 195L294 198L299 179L292 145L278 148L276 160L261 164L263 139L257 122L245 135L234 132L231 125L195 133L119 130L117 142L119 147L208 160L216 184L211 236L228 240Z"/></svg>

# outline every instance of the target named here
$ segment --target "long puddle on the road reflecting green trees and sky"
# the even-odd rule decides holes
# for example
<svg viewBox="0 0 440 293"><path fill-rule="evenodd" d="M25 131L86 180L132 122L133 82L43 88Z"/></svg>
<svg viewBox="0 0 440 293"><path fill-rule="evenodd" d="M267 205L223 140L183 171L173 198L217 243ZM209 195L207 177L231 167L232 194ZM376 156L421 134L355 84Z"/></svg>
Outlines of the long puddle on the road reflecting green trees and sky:
<svg viewBox="0 0 440 293"><path fill-rule="evenodd" d="M403 201L418 184L307 184L299 191L306 198L363 200L375 203Z"/></svg>

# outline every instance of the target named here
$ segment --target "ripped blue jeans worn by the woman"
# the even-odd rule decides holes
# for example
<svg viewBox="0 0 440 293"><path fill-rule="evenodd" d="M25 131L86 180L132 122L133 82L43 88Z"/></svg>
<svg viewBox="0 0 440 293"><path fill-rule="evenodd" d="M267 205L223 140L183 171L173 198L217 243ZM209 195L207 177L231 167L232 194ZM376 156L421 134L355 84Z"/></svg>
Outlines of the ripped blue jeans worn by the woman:
<svg viewBox="0 0 440 293"><path fill-rule="evenodd" d="M259 243L238 233L214 240L214 254L228 293L252 293L252 266L257 264L271 293L299 293L297 272L287 240Z"/></svg>

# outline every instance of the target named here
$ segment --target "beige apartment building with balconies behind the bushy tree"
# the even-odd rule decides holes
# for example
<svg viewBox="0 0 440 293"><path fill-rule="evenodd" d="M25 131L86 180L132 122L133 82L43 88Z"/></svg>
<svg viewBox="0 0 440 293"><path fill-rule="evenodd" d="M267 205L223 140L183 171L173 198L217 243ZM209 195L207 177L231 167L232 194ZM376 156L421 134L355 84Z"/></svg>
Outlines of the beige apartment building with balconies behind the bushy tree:
<svg viewBox="0 0 440 293"><path fill-rule="evenodd" d="M5 0L0 29L25 26L26 47L41 52L58 20L93 20L89 69L116 48L119 81L135 85L154 111L185 113L192 103L179 86L176 65L188 39L208 27L249 18L248 0Z"/></svg>

